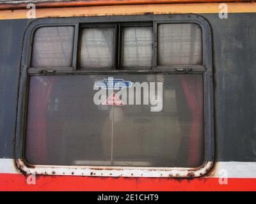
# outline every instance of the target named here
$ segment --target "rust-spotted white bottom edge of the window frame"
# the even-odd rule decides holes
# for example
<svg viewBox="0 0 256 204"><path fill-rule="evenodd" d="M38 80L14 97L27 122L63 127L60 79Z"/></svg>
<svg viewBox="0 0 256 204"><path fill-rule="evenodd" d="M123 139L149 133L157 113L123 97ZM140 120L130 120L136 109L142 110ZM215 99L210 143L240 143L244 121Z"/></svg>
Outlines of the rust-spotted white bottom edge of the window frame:
<svg viewBox="0 0 256 204"><path fill-rule="evenodd" d="M213 162L209 161L198 168L142 168L142 167L102 167L102 166L42 166L29 165L16 159L20 171L26 175L79 175L95 177L163 177L195 178L207 174Z"/></svg>

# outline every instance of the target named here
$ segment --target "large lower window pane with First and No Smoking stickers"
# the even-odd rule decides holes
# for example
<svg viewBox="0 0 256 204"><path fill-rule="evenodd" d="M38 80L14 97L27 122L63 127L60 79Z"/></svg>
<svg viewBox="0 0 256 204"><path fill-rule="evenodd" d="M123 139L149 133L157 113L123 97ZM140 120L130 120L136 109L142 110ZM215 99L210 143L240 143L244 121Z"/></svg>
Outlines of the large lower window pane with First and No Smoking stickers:
<svg viewBox="0 0 256 204"><path fill-rule="evenodd" d="M93 90L108 77L30 77L28 163L195 167L204 162L202 75L113 75L137 84L122 94L112 89L124 104L104 99L97 105L93 98L99 93L113 96L111 90Z"/></svg>

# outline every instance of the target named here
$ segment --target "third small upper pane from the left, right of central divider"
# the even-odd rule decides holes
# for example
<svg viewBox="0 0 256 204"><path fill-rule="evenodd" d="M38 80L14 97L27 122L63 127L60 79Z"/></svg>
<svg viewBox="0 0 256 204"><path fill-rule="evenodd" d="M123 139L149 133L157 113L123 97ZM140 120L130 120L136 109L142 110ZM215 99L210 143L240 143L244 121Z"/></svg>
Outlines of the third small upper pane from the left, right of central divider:
<svg viewBox="0 0 256 204"><path fill-rule="evenodd" d="M123 67L151 67L152 27L125 27L123 31Z"/></svg>

